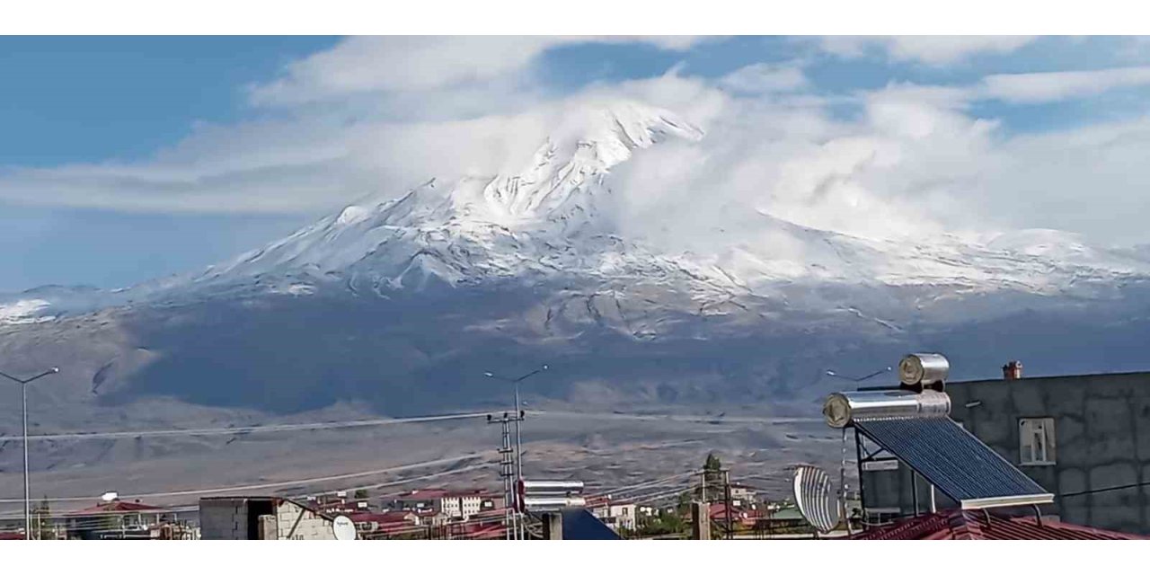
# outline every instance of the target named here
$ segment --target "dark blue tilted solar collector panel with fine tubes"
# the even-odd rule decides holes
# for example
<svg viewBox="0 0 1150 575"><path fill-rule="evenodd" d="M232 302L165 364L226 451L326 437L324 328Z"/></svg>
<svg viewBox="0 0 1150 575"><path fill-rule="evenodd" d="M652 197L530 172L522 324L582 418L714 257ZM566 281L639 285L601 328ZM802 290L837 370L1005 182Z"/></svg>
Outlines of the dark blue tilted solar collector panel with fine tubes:
<svg viewBox="0 0 1150 575"><path fill-rule="evenodd" d="M854 425L956 501L1046 493L949 417L856 421Z"/></svg>

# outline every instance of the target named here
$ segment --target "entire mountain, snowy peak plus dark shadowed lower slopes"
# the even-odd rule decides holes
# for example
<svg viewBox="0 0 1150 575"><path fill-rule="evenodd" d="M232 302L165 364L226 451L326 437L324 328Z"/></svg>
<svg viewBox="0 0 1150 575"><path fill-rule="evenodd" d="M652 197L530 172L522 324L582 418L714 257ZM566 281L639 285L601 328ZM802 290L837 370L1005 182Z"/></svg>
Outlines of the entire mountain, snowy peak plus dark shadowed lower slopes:
<svg viewBox="0 0 1150 575"><path fill-rule="evenodd" d="M869 367L922 345L986 375L1014 359L997 358L987 330L1043 325L1014 347L1090 366L1089 350L1060 347L1083 325L1150 327L1144 250L1052 230L896 241L745 209L727 222L737 240L669 251L621 225L628 191L613 169L706 136L634 102L586 117L518 169L384 189L202 271L0 298L0 353L78 358L72 391L102 401L291 411L355 398L398 413L482 396L478 365L568 358L549 391L565 398L769 398L811 391L827 362Z"/></svg>

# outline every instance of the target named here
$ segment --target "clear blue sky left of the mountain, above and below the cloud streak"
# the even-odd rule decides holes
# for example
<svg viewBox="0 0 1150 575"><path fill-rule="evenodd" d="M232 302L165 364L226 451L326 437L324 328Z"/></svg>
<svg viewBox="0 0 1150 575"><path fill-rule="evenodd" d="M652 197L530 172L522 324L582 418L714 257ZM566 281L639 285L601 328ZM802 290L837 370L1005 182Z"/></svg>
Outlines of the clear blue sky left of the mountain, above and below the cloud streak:
<svg viewBox="0 0 1150 575"><path fill-rule="evenodd" d="M330 37L0 37L0 166L139 160ZM0 291L122 286L218 261L309 217L132 214L0 202Z"/></svg>

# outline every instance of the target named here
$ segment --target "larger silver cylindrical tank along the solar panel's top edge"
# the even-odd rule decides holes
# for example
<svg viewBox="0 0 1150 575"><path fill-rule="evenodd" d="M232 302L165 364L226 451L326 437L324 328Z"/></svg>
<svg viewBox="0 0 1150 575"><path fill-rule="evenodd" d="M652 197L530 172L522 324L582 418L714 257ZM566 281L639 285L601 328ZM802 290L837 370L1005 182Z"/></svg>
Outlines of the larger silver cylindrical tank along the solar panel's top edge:
<svg viewBox="0 0 1150 575"><path fill-rule="evenodd" d="M864 420L945 417L950 415L950 396L929 390L838 392L827 398L822 415L833 428Z"/></svg>

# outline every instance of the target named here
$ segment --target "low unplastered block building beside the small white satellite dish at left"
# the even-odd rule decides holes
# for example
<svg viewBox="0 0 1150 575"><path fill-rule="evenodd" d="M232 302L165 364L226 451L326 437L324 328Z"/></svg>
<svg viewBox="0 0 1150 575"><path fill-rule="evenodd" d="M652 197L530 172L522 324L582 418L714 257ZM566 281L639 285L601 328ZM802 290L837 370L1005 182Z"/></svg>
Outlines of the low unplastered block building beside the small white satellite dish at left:
<svg viewBox="0 0 1150 575"><path fill-rule="evenodd" d="M335 539L335 515L282 497L200 499L205 539Z"/></svg>

